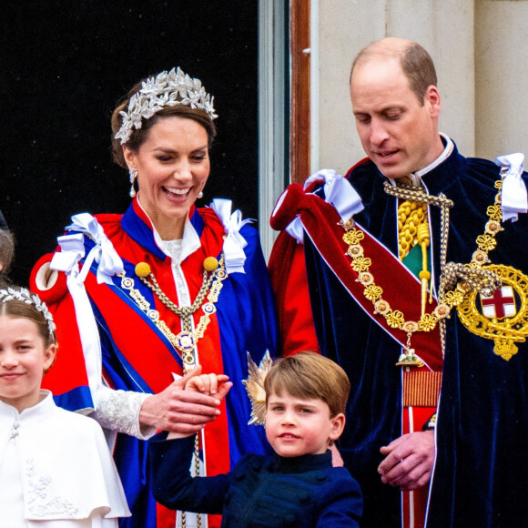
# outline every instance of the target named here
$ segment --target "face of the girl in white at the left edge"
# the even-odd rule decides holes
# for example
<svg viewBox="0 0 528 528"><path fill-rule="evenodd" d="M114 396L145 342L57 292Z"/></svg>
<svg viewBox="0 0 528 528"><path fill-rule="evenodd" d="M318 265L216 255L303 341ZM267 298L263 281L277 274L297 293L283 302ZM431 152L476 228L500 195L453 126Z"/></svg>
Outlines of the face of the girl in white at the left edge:
<svg viewBox="0 0 528 528"><path fill-rule="evenodd" d="M0 401L19 412L36 405L55 354L56 346L45 347L35 322L0 317Z"/></svg>

